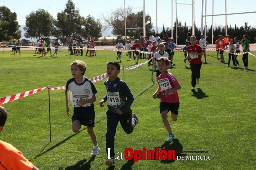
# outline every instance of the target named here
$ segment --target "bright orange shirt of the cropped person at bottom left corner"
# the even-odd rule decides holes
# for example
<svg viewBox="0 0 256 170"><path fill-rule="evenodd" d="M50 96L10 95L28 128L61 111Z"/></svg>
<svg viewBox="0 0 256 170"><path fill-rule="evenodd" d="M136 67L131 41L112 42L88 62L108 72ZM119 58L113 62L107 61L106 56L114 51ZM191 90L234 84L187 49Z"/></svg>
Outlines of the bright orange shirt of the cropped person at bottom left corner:
<svg viewBox="0 0 256 170"><path fill-rule="evenodd" d="M33 164L13 145L0 140L0 170L31 170Z"/></svg>

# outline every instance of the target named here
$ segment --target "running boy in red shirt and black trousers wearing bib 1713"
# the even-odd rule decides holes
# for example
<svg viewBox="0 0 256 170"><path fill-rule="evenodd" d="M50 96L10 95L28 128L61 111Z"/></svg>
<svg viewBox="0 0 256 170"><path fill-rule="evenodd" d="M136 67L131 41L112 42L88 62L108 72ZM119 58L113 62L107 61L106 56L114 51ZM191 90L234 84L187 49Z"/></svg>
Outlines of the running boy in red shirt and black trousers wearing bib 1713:
<svg viewBox="0 0 256 170"><path fill-rule="evenodd" d="M191 91L196 90L196 84L199 83L200 79L200 70L202 66L202 54L203 50L200 47L200 45L196 44L196 37L192 36L190 37L190 43L191 45L188 46L188 55L186 59L190 58L190 66L191 66L191 85L192 89Z"/></svg>

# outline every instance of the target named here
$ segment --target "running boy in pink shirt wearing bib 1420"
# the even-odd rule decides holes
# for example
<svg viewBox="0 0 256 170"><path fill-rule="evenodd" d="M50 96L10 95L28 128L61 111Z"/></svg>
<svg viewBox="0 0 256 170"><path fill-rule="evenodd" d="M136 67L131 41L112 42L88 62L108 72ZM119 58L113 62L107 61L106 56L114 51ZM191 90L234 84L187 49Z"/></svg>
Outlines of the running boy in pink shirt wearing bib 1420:
<svg viewBox="0 0 256 170"><path fill-rule="evenodd" d="M174 139L174 135L172 133L170 123L167 119L167 114L169 111L171 111L172 121L177 120L179 112L179 95L177 90L179 90L181 86L176 77L167 71L167 69L169 68L168 58L158 58L157 63L161 75L157 77L158 88L156 92L152 95L152 97L155 99L157 93L162 91L159 108L160 113L162 115L164 126L169 133L167 141L171 142Z"/></svg>

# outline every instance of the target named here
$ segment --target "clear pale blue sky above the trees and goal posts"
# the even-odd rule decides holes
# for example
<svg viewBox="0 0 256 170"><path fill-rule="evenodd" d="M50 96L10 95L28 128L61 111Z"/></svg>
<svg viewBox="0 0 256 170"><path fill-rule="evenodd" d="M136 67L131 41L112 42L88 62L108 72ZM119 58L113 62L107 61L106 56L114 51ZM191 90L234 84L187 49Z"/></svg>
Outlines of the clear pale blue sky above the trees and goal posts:
<svg viewBox="0 0 256 170"><path fill-rule="evenodd" d="M204 0L204 4L205 4ZM45 2L45 3L43 3ZM12 12L17 13L17 20L20 25L25 25L26 15L38 8L43 8L47 10L54 18L57 17L57 13L65 8L65 0L53 0L53 1L10 1L1 0L0 6L8 7ZM123 0L73 0L75 6L79 8L81 16L88 16L89 14L95 18L101 19L102 15L109 15L111 11L116 8L124 7ZM142 0L126 0L126 6L131 7L142 7ZM158 27L171 26L171 0L158 0ZM191 3L192 0L177 0L177 3ZM202 1L195 0L195 21L196 26L201 25L201 11L202 11ZM40 4L40 5L39 5ZM192 24L192 6L191 5L177 5L177 17L179 20L187 22L187 25ZM240 13L247 11L256 11L256 1L255 0L227 0L227 13ZM138 11L139 9L134 9ZM145 12L150 14L152 18L153 25L156 25L156 0L145 0ZM205 10L204 10L205 13ZM225 13L225 0L214 0L214 14ZM207 0L207 15L212 14L212 0ZM237 26L243 26L244 21L249 22L251 26L256 26L256 13L251 14L241 14L241 15L228 15L227 22L228 25L232 27L237 24ZM175 0L173 0L173 21L175 20ZM207 17L207 25L210 26L212 23L212 17ZM218 25L225 25L225 16L215 16L214 24L216 27ZM104 24L104 23L103 23ZM23 31L23 30L22 30ZM161 30L160 30L161 31Z"/></svg>

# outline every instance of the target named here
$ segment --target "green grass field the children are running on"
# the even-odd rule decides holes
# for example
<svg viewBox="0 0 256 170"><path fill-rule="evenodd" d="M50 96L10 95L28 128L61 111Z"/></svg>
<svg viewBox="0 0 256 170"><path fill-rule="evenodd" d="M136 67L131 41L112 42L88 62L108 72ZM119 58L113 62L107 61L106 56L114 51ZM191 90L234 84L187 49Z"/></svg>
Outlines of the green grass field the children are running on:
<svg viewBox="0 0 256 170"><path fill-rule="evenodd" d="M63 51L63 50L62 50ZM256 54L256 52L251 52ZM59 58L39 57L34 51L22 51L21 56L0 51L0 98L50 85L66 85L71 78L70 63L83 60L87 64L85 76L92 78L104 74L106 64L116 60L116 52L97 51L96 57L70 56L59 52ZM106 57L106 61L105 61ZM228 54L224 53L226 62ZM49 143L48 90L3 104L8 119L0 139L13 144L39 169L255 169L256 162L256 58L249 55L249 69L227 67L216 59L215 51L207 51L208 64L202 64L201 81L196 92L191 89L189 64L184 54L176 51L174 68L182 88L179 116L170 122L175 140L166 143L168 133L159 113L160 99L151 95L157 88L153 83L152 66L146 64L125 71L125 82L130 87L134 102L133 113L140 119L133 133L127 135L120 124L115 137L115 152L132 149L166 147L176 151L208 151L208 153L177 153L177 155L206 155L210 160L141 160L137 163L116 160L115 168L105 165L106 105L99 101L106 94L104 80L94 83L98 93L95 102L95 134L101 147L100 155L91 157L92 142L86 127L73 133L71 118L66 115L65 90L50 91L51 135ZM123 53L121 66L129 67L134 60L126 60ZM146 61L139 60L139 63ZM243 66L242 56L238 61ZM232 66L232 61L231 64ZM123 70L119 77L123 79ZM153 77L153 78L152 78ZM71 107L71 112L72 107ZM170 116L170 115L169 115ZM169 121L171 119L169 118Z"/></svg>

